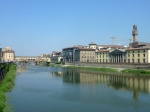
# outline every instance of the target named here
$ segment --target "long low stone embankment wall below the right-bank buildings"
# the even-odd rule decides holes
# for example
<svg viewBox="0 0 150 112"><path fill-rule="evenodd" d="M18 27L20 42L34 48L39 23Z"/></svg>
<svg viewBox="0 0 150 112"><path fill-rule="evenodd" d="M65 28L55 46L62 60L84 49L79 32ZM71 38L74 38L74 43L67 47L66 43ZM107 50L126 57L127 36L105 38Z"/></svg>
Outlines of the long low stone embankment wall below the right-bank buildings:
<svg viewBox="0 0 150 112"><path fill-rule="evenodd" d="M124 68L124 69L150 69L150 63L66 63L66 65L90 66L90 67L108 67L108 68Z"/></svg>

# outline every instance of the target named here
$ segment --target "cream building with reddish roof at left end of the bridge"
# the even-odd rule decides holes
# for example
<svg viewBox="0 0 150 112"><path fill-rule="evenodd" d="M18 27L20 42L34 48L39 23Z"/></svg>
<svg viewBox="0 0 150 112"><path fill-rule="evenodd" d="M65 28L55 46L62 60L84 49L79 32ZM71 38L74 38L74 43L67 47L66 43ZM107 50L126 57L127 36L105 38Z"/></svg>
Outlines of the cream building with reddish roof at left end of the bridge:
<svg viewBox="0 0 150 112"><path fill-rule="evenodd" d="M5 47L3 53L3 61L10 62L15 59L15 52L10 47Z"/></svg>

